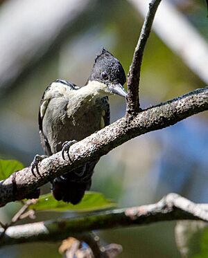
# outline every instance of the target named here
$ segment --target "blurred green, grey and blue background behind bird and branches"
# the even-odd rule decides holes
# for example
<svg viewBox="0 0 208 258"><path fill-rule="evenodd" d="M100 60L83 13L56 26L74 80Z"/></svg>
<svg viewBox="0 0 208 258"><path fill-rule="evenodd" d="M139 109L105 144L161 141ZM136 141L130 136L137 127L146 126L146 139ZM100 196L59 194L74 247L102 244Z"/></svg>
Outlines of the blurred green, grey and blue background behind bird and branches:
<svg viewBox="0 0 208 258"><path fill-rule="evenodd" d="M140 1L141 2L141 1ZM205 1L169 1L207 41ZM137 44L143 17L132 1L7 0L0 5L0 157L29 165L43 154L37 113L47 85L57 78L84 85L98 50L105 46L125 72ZM164 21L166 22L166 21ZM174 23L174 21L173 21ZM177 37L177 31L175 37ZM188 47L188 46L187 46ZM207 71L208 72L208 71ZM205 86L153 32L141 73L141 107L166 101ZM125 113L121 98L110 98L111 122ZM177 192L196 202L208 201L207 112L173 127L148 133L114 149L95 169L92 190L119 207L158 201ZM49 190L43 187L42 192ZM10 221L15 203L0 210ZM37 214L37 220L70 214ZM180 257L174 222L98 232L103 243L121 243L119 257ZM60 257L60 243L1 248L1 257Z"/></svg>

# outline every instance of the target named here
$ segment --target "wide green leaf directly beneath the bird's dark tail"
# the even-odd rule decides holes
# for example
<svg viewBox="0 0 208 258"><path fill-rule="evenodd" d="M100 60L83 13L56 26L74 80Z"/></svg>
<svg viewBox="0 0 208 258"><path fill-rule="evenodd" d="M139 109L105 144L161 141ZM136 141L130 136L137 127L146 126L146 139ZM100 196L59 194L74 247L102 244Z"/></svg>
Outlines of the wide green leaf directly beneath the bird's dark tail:
<svg viewBox="0 0 208 258"><path fill-rule="evenodd" d="M40 196L37 203L30 205L29 208L38 211L92 212L95 210L113 208L115 206L115 203L105 199L105 196L99 192L86 192L83 200L76 205L64 203L64 201L56 201L51 194L44 194Z"/></svg>

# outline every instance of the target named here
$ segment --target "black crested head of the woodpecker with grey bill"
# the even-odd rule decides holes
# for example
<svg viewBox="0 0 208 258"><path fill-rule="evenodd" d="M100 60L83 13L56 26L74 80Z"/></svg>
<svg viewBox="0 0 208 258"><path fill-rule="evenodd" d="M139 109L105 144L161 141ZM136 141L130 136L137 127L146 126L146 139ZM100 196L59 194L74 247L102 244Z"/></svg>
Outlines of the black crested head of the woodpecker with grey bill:
<svg viewBox="0 0 208 258"><path fill-rule="evenodd" d="M105 48L96 56L88 84L96 87L101 95L117 94L126 97L127 93L123 89L125 84L125 72L123 66Z"/></svg>

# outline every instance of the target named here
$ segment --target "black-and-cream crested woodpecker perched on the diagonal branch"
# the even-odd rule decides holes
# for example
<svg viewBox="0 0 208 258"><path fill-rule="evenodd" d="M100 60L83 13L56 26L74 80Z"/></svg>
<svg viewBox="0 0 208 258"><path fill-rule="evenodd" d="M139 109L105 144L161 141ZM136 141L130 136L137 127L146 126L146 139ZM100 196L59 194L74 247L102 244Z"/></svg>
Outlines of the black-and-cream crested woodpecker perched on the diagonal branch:
<svg viewBox="0 0 208 258"><path fill-rule="evenodd" d="M71 144L110 125L108 96L115 94L126 98L125 81L123 66L103 48L96 55L84 86L60 79L52 82L42 95L39 109L40 140L46 156L62 151L64 158L65 151L69 155ZM37 160L40 159L36 157ZM96 163L98 159L51 181L54 198L73 205L80 203L91 187Z"/></svg>

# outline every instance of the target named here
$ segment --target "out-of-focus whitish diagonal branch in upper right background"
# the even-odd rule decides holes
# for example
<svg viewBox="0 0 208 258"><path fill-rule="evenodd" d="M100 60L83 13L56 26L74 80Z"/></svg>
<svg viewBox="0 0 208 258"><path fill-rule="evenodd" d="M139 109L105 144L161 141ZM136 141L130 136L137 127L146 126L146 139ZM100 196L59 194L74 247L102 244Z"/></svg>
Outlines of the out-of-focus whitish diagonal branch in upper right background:
<svg viewBox="0 0 208 258"><path fill-rule="evenodd" d="M148 1L128 0L139 15L145 17ZM178 2L179 3L179 2ZM174 21L174 22L173 22ZM208 44L207 39L191 24L187 17L177 9L177 4L164 1L157 11L153 30L164 44L178 55L205 84L208 84ZM175 32L177 31L177 37ZM193 55L194 49L194 55Z"/></svg>

